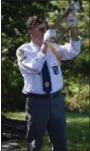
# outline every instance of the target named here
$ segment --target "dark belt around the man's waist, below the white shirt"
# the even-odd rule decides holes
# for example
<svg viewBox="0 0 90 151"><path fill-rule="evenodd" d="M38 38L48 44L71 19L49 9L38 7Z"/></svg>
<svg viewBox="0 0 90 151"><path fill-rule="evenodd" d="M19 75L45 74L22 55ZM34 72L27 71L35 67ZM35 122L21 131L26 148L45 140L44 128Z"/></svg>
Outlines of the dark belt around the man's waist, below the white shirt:
<svg viewBox="0 0 90 151"><path fill-rule="evenodd" d="M42 98L53 98L56 97L60 94L60 90L55 92L55 93L50 93L50 94L36 94L36 93L27 93L27 96L32 96L32 97L42 97Z"/></svg>

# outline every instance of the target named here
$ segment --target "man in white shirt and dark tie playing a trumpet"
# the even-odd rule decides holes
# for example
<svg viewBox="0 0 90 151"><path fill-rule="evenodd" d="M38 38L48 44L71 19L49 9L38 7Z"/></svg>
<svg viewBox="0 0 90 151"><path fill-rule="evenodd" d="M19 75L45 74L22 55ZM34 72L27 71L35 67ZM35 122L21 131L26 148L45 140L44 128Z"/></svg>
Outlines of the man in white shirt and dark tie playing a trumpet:
<svg viewBox="0 0 90 151"><path fill-rule="evenodd" d="M75 18L72 20L75 23ZM57 57L48 47L56 31L49 29L45 33L44 18L40 15L29 17L26 25L31 42L21 45L16 56L24 79L23 93L27 96L27 150L40 151L47 130L53 149L66 151L64 100L60 94L63 77ZM80 52L80 38L72 26L73 23L70 43L52 43L61 60L72 59Z"/></svg>

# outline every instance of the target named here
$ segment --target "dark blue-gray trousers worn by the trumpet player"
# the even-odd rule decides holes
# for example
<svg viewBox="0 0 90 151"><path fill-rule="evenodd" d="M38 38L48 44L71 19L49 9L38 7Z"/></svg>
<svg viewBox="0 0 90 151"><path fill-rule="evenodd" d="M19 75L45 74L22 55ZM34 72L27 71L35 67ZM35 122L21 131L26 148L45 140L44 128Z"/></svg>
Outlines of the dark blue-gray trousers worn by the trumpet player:
<svg viewBox="0 0 90 151"><path fill-rule="evenodd" d="M66 120L61 95L52 98L28 95L26 100L27 150L40 151L48 131L55 151L66 151Z"/></svg>

